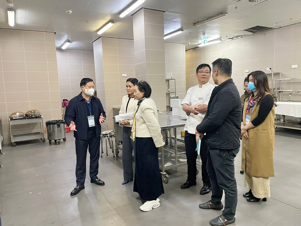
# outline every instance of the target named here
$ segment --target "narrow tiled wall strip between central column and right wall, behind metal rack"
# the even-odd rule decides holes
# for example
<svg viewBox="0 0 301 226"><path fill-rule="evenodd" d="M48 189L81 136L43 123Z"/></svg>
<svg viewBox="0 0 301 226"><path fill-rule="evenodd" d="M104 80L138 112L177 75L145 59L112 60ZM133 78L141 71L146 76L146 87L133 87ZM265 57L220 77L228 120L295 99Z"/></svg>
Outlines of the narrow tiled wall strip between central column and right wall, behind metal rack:
<svg viewBox="0 0 301 226"><path fill-rule="evenodd" d="M165 73L172 73L176 79L176 94L180 99L186 95L185 67L185 44L165 42ZM174 92L174 81L169 83L170 91Z"/></svg>

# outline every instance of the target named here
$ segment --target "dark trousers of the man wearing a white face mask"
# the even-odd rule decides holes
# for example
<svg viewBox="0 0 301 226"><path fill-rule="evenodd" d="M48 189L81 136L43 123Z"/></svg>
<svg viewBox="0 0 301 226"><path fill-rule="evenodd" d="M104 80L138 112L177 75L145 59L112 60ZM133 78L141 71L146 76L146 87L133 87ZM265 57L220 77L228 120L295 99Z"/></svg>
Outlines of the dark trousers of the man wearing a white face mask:
<svg viewBox="0 0 301 226"><path fill-rule="evenodd" d="M98 175L98 160L99 160L100 136L96 137L95 131L88 131L87 140L75 139L76 152L76 184L83 186L86 179L86 159L87 149L90 153L90 178L97 179Z"/></svg>

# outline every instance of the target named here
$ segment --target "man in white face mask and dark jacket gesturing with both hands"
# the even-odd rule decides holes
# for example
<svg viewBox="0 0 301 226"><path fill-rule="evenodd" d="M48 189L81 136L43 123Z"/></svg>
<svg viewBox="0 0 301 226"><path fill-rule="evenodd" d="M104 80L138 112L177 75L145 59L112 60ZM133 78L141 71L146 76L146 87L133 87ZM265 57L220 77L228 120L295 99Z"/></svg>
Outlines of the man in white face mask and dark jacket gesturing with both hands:
<svg viewBox="0 0 301 226"><path fill-rule="evenodd" d="M74 131L76 151L76 184L70 195L74 196L85 188L87 149L90 153L91 183L104 185L98 179L98 160L101 135L101 123L106 113L100 100L93 96L94 82L91 78L83 78L80 83L82 92L72 98L66 108L65 121Z"/></svg>

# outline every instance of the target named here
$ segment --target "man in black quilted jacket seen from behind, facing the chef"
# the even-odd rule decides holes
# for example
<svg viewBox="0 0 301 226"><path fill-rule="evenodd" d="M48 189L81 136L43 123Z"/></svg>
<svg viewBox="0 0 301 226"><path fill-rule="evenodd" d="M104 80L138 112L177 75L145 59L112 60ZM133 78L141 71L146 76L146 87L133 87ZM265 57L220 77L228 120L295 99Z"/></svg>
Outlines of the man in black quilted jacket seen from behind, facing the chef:
<svg viewBox="0 0 301 226"><path fill-rule="evenodd" d="M239 92L231 78L232 62L219 58L212 63L214 88L203 121L196 127L196 138L208 145L207 172L211 182L211 200L199 205L202 209L223 209L221 199L225 192L223 214L210 221L212 226L235 222L237 186L234 176L234 158L240 147L241 103Z"/></svg>

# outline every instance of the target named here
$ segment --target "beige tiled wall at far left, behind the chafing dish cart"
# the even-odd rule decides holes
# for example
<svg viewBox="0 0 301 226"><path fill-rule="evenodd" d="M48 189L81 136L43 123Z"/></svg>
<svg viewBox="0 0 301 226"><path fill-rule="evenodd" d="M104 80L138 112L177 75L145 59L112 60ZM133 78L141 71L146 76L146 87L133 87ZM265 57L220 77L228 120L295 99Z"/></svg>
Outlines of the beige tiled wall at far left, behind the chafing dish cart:
<svg viewBox="0 0 301 226"><path fill-rule="evenodd" d="M0 115L10 142L12 112L40 110L44 122L61 118L54 33L0 29ZM33 132L36 124L14 126L13 134Z"/></svg>

